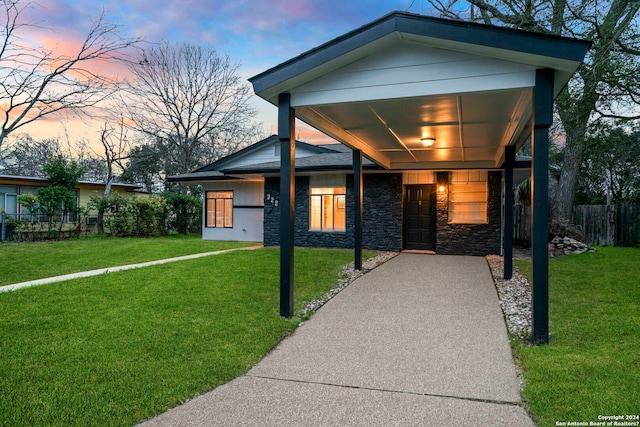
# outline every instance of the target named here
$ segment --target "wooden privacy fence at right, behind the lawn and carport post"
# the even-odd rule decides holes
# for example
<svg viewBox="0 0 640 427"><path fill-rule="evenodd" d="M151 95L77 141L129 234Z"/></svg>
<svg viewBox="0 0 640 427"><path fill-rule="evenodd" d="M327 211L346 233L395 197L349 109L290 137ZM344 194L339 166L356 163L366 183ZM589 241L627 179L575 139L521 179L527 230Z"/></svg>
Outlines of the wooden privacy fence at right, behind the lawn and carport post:
<svg viewBox="0 0 640 427"><path fill-rule="evenodd" d="M531 210L515 205L514 243L531 245ZM618 202L613 205L581 205L574 208L573 224L585 235L589 245L640 245L640 203Z"/></svg>

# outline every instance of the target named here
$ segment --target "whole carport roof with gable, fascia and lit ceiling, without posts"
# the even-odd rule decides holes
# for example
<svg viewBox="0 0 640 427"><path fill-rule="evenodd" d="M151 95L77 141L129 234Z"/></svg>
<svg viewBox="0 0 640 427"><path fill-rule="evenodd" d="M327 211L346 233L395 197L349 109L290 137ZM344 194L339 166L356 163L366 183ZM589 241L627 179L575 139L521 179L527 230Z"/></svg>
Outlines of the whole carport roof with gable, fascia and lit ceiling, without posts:
<svg viewBox="0 0 640 427"><path fill-rule="evenodd" d="M557 94L588 47L394 12L250 80L387 169L492 169L531 132L536 70L554 69Z"/></svg>

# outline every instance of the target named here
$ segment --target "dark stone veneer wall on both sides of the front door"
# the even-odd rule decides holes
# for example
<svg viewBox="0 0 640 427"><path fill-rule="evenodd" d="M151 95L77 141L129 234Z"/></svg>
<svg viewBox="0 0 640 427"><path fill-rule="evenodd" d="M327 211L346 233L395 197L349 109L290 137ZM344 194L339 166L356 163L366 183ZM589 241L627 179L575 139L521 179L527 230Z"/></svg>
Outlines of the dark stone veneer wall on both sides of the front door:
<svg viewBox="0 0 640 427"><path fill-rule="evenodd" d="M446 181L446 172L439 172ZM488 224L449 224L448 193L437 193L436 253L477 255L500 253L501 172L488 174ZM295 245L326 248L353 248L353 175L346 177L346 231L309 231L309 177L296 177ZM280 179L265 178L264 245L280 245ZM402 174L364 176L363 247L402 250ZM276 203L277 202L277 203Z"/></svg>

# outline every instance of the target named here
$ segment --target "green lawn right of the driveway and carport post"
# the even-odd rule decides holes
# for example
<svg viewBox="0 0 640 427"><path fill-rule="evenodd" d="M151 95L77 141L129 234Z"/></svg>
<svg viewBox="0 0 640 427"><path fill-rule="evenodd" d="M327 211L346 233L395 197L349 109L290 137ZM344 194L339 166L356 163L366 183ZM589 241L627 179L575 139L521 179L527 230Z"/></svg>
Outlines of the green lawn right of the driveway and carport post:
<svg viewBox="0 0 640 427"><path fill-rule="evenodd" d="M517 265L531 270L530 262ZM540 426L640 413L639 271L637 248L550 260L550 343L514 343Z"/></svg>

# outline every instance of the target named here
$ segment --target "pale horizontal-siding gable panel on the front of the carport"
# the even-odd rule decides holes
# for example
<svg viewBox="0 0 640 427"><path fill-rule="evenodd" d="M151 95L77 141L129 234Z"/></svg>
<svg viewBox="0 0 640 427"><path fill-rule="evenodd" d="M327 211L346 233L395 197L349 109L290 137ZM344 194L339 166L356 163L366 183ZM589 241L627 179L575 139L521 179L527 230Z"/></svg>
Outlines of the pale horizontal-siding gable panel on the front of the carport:
<svg viewBox="0 0 640 427"><path fill-rule="evenodd" d="M500 78L495 78L500 76ZM374 54L291 89L292 106L530 88L535 67L391 40Z"/></svg>

